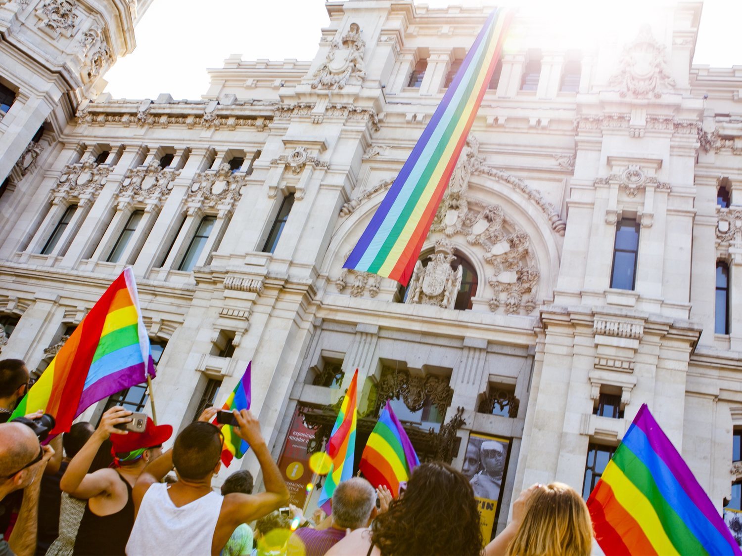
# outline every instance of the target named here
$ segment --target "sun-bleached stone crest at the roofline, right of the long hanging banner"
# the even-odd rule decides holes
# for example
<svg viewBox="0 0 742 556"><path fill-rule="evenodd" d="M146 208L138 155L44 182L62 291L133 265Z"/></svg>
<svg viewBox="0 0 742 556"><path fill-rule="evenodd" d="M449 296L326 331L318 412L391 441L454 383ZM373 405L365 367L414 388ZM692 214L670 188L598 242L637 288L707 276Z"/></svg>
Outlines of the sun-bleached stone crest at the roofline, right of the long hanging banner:
<svg viewBox="0 0 742 556"><path fill-rule="evenodd" d="M637 99L659 99L663 89L675 86L666 64L665 45L654 39L649 25L643 25L634 42L624 48L610 85L619 87L620 96Z"/></svg>

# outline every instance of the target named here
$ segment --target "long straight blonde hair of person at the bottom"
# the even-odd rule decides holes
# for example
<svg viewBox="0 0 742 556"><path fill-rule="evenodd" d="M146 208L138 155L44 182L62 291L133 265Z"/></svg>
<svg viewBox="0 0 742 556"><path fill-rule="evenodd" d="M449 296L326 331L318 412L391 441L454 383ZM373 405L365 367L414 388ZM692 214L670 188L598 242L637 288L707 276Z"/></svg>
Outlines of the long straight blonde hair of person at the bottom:
<svg viewBox="0 0 742 556"><path fill-rule="evenodd" d="M593 526L580 494L564 483L540 486L528 499L525 515L506 555L589 555Z"/></svg>

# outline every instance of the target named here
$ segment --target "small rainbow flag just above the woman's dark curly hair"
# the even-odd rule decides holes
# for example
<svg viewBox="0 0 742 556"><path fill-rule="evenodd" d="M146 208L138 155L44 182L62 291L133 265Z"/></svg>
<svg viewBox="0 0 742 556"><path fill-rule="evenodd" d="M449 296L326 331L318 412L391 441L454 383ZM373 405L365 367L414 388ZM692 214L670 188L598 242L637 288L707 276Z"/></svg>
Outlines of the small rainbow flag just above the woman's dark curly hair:
<svg viewBox="0 0 742 556"><path fill-rule="evenodd" d="M387 401L371 431L358 468L373 486L386 485L396 498L399 483L410 480L418 465L420 460L410 438Z"/></svg>

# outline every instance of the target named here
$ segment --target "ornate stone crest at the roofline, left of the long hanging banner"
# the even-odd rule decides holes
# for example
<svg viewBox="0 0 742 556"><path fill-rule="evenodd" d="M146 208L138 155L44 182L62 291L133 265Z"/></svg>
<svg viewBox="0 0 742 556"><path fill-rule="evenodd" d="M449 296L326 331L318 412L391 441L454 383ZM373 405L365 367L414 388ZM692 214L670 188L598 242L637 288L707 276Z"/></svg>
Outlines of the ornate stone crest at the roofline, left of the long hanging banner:
<svg viewBox="0 0 742 556"><path fill-rule="evenodd" d="M341 41L330 44L325 61L313 74L312 89L342 89L351 79L360 85L366 77L365 49L361 28L357 23L351 23Z"/></svg>

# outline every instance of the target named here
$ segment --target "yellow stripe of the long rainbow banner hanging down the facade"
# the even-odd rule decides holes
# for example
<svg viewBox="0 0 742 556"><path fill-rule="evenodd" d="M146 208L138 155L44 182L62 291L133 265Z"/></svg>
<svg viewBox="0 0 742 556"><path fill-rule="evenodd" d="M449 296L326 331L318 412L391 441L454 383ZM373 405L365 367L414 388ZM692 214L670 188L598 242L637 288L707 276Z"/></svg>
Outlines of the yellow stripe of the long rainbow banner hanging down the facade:
<svg viewBox="0 0 742 556"><path fill-rule="evenodd" d="M485 59L489 60L494 56L497 43L499 42L500 33L502 33L502 26L505 24L505 16L500 15L497 18L495 31L493 33L492 42L490 42L490 47L487 49L487 56ZM476 83L473 88L473 93L476 91L477 93L482 87L482 83L485 81L485 77L487 76L487 72L479 72L479 75L476 78ZM472 102L472 97L470 96L470 102L467 104L467 107L464 108L464 112L462 112L462 116L459 118L459 122L456 125L456 128L453 130L453 133L451 134L451 138L459 139L462 136L463 130L466 127L466 122L469 119L470 114L474 110L474 103ZM439 159L439 163L436 166L436 169L433 171L433 174L430 176L430 183L438 184L441 181L441 176L443 175L443 171L446 168L446 165L448 164L448 161L451 159L451 156L453 156L453 150L456 148L456 141L449 141L446 150L444 150L441 158ZM423 212L425 211L425 208L427 207L428 203L430 202L430 198L433 196L433 192L436 190L434 187L425 188L422 192L420 199L418 200L417 205L415 208L413 208L412 214L410 214L410 218L407 219L407 224L404 225L404 229L399 234L399 237L397 238L397 241L395 242L394 246L390 249L389 255L387 255L387 259L384 261L384 264L381 265L381 268L378 269L378 274L381 276L389 276L391 271L393 271L395 265L399 261L399 257L404 250L405 247L407 247L407 244L410 242L410 236L412 236L413 231L415 231L415 228L417 228L418 223L420 222L420 219L422 217Z"/></svg>

